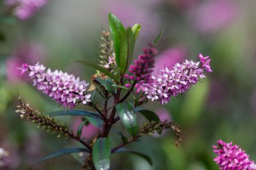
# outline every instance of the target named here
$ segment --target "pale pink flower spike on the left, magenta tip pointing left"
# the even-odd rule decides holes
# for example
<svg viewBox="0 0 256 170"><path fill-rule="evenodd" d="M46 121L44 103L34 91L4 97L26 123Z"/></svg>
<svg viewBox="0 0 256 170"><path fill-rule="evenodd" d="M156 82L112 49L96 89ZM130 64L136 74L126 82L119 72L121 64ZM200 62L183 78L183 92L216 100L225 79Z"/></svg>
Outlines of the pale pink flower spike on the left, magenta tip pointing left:
<svg viewBox="0 0 256 170"><path fill-rule="evenodd" d="M65 108L73 109L78 102L86 104L90 101L90 94L86 94L86 81L79 81L74 75L63 73L62 71L51 71L44 65L23 64L21 74L29 72L29 77L33 80L34 86L42 93L55 99Z"/></svg>

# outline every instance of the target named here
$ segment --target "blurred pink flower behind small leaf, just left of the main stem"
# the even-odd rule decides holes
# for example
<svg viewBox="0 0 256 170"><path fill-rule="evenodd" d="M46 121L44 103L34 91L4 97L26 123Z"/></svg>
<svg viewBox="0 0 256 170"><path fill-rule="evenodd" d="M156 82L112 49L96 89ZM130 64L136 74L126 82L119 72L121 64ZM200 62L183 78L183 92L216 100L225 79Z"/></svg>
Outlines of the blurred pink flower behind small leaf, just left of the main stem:
<svg viewBox="0 0 256 170"><path fill-rule="evenodd" d="M77 130L78 126L82 123L82 120L79 116L73 119L72 123L72 129L74 131ZM84 126L82 131L82 137L86 138L86 140L92 140L95 136L97 136L99 132L99 129L93 126L92 124L89 124L88 126Z"/></svg>

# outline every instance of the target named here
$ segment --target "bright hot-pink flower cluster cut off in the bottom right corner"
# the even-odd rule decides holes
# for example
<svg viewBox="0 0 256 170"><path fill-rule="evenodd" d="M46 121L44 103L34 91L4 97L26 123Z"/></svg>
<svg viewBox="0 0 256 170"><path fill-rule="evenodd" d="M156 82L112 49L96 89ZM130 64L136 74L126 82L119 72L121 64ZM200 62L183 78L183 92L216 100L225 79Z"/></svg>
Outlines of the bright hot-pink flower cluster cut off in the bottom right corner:
<svg viewBox="0 0 256 170"><path fill-rule="evenodd" d="M254 170L256 169L253 161L249 160L249 156L242 149L232 142L226 143L218 140L218 146L212 146L214 153L218 154L214 159L216 164L222 170Z"/></svg>

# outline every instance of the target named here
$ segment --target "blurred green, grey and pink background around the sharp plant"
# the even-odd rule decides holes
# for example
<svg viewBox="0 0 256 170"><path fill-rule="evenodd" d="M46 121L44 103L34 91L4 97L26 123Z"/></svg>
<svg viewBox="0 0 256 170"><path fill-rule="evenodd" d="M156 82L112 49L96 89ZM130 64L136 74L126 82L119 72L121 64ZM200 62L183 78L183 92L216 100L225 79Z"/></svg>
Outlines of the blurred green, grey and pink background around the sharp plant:
<svg viewBox="0 0 256 170"><path fill-rule="evenodd" d="M157 68L171 67L202 53L212 57L214 70L169 104L145 105L162 120L181 125L184 138L179 148L174 146L172 132L143 137L129 148L150 155L154 166L140 157L123 154L113 155L111 169L218 169L212 145L219 139L234 141L256 161L256 1L51 0L29 19L19 19L8 9L5 1L0 1L0 147L9 153L7 165L0 169L29 169L39 157L76 145L44 134L15 113L18 94L42 112L61 109L15 68L22 62L39 61L90 81L94 69L71 60L98 59L97 43L102 28L108 30L108 11L125 26L142 24L134 57L165 27L157 46ZM74 130L80 121L61 119ZM84 135L92 138L96 132L92 126L84 130ZM113 144L117 144L119 139L111 135ZM64 156L34 169L81 168L75 159Z"/></svg>

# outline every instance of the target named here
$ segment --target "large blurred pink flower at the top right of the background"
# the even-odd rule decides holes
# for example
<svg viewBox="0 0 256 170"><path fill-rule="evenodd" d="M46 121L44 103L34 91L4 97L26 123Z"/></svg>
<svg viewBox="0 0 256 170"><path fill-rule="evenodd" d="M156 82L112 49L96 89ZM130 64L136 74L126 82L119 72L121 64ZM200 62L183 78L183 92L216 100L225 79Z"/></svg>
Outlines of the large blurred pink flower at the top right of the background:
<svg viewBox="0 0 256 170"><path fill-rule="evenodd" d="M210 34L227 26L238 13L238 7L232 0L201 1L188 13L189 20L201 34Z"/></svg>

